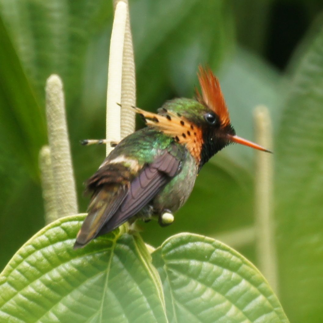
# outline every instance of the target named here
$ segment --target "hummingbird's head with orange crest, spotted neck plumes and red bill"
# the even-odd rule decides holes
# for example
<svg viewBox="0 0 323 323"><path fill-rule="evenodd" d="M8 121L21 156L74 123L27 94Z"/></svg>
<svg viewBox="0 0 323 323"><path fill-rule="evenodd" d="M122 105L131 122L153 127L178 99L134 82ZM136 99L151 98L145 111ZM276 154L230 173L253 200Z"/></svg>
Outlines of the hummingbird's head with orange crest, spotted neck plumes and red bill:
<svg viewBox="0 0 323 323"><path fill-rule="evenodd" d="M195 99L178 98L167 101L158 114L137 109L147 125L170 135L187 146L201 167L215 153L230 143L239 143L261 151L267 149L236 136L219 80L211 69L199 67L201 93Z"/></svg>

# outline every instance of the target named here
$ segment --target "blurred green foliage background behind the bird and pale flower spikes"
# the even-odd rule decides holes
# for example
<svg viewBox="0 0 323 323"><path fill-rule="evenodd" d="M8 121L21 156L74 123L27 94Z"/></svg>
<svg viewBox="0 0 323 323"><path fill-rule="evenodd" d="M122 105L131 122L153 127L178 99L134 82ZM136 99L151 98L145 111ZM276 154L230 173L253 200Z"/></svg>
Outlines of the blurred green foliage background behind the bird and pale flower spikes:
<svg viewBox="0 0 323 323"><path fill-rule="evenodd" d="M322 9L320 0L130 0L138 106L155 110L192 96L197 65L208 63L238 135L252 139L255 105L270 109L280 301L291 322L323 321ZM79 140L105 135L111 21L106 0L0 0L1 268L44 225L37 159L51 73L64 82L79 209L86 210L82 183L105 149ZM145 241L157 246L176 232L216 236L253 224L252 154L231 146L216 155L172 226L142 224ZM256 264L253 248L243 251Z"/></svg>

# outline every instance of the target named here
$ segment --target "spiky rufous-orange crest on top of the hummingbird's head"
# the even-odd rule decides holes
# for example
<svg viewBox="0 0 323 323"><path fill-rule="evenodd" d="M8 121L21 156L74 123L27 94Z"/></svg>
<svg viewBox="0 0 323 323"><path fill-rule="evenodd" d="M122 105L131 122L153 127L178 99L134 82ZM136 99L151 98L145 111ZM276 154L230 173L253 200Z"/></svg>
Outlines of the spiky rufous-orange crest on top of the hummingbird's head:
<svg viewBox="0 0 323 323"><path fill-rule="evenodd" d="M223 127L230 124L229 111L220 88L219 80L214 76L210 68L199 66L198 73L202 95L196 89L197 100L213 110L220 118Z"/></svg>

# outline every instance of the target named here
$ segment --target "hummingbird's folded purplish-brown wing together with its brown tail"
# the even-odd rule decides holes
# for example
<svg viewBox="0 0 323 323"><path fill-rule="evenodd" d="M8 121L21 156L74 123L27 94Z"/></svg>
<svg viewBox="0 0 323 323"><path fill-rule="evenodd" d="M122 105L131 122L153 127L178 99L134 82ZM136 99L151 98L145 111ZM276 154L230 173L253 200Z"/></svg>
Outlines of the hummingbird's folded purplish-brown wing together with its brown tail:
<svg viewBox="0 0 323 323"><path fill-rule="evenodd" d="M112 231L139 212L180 172L181 160L182 151L177 145L172 145L169 149L161 151L161 154L151 164L143 167L134 178L131 178L129 170L127 174L125 170L111 169L119 164L105 166L103 179L99 178L99 170L97 178L93 179L98 188L94 191L89 214L83 222L74 247L81 247L93 238ZM95 176L96 174L92 178ZM91 189L91 183L89 186Z"/></svg>

